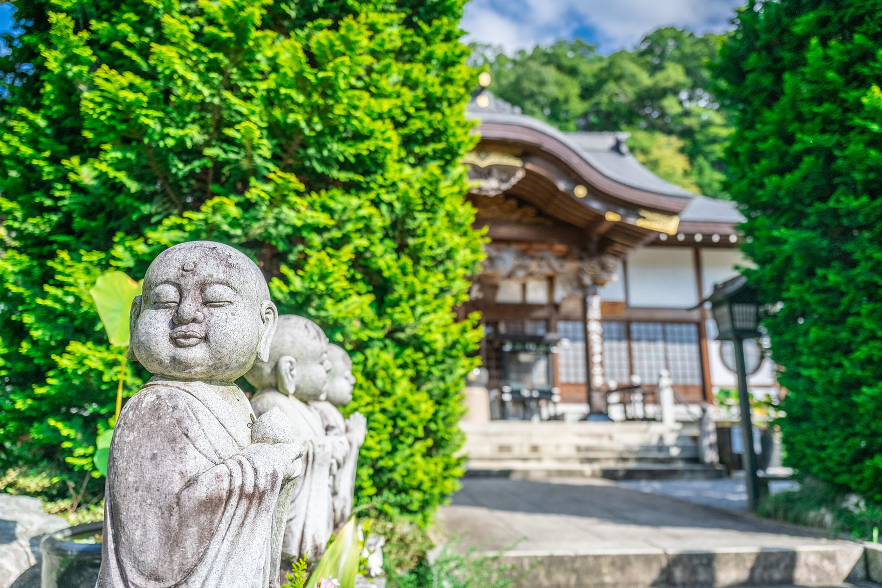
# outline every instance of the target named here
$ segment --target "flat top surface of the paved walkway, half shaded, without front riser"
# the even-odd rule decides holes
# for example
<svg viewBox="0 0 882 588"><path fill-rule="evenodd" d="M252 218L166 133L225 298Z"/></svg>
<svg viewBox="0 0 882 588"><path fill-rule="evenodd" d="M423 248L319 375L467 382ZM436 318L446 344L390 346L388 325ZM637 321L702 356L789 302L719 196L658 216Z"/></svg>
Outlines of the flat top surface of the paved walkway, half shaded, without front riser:
<svg viewBox="0 0 882 588"><path fill-rule="evenodd" d="M465 479L440 522L482 549L594 551L797 547L829 544L810 531L624 488L605 480L549 483Z"/></svg>

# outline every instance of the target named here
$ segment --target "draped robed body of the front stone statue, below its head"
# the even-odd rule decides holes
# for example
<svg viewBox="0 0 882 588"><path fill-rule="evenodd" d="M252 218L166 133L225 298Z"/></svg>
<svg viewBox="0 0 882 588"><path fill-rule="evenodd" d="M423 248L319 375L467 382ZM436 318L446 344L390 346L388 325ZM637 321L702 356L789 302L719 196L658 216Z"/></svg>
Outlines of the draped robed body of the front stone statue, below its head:
<svg viewBox="0 0 882 588"><path fill-rule="evenodd" d="M110 446L97 588L279 586L286 464L251 443L251 415L235 384L154 377L129 400Z"/></svg>

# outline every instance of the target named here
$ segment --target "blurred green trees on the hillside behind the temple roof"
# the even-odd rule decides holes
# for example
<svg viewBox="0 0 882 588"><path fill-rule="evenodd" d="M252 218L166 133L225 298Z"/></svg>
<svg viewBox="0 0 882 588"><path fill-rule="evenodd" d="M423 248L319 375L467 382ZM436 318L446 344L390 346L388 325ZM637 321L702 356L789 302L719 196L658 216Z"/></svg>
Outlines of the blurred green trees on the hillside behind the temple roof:
<svg viewBox="0 0 882 588"><path fill-rule="evenodd" d="M709 67L722 39L668 27L610 56L557 41L514 56L475 46L474 63L490 71L490 90L525 114L564 131L629 130L632 152L655 174L720 197L730 129Z"/></svg>

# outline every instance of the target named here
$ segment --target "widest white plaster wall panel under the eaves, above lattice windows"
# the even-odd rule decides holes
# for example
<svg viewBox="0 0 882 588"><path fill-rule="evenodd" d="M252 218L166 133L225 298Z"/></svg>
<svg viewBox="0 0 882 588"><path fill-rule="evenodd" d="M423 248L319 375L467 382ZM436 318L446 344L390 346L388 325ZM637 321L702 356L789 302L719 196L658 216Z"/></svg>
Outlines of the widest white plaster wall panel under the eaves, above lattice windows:
<svg viewBox="0 0 882 588"><path fill-rule="evenodd" d="M690 248L638 249L628 257L627 279L629 306L688 309L699 303Z"/></svg>

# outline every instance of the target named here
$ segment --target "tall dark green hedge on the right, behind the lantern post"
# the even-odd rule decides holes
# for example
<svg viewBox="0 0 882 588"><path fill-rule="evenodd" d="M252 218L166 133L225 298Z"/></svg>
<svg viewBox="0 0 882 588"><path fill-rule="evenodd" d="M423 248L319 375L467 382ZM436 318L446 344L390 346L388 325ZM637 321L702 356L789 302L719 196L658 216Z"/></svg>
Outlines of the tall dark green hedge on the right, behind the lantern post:
<svg viewBox="0 0 882 588"><path fill-rule="evenodd" d="M790 465L882 501L882 6L751 2L723 48L746 272L789 391Z"/></svg>

